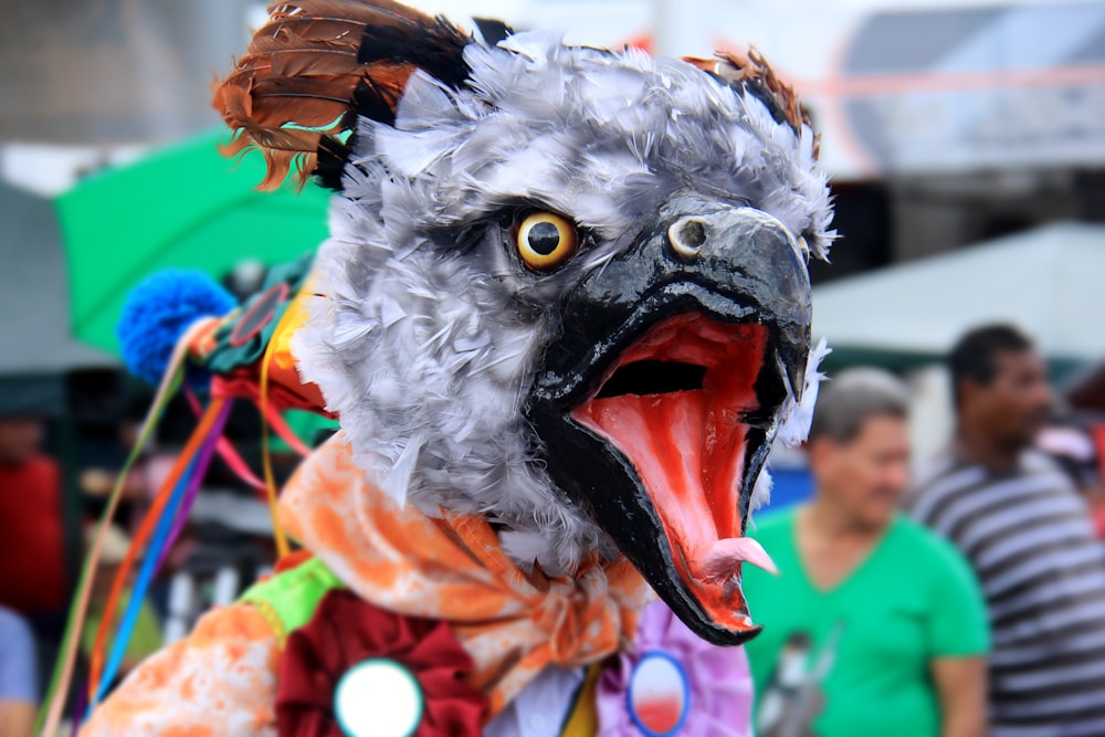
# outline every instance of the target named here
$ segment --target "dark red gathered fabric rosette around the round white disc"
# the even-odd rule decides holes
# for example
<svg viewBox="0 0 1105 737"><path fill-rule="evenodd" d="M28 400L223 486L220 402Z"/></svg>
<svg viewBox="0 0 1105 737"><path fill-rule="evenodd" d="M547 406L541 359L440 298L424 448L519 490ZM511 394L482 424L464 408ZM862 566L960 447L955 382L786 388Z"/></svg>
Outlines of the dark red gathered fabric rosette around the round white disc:
<svg viewBox="0 0 1105 737"><path fill-rule="evenodd" d="M463 682L472 657L444 622L402 617L334 590L288 635L276 687L280 737L341 737L334 689L357 663L387 657L411 671L425 712L414 737L480 735L486 698Z"/></svg>

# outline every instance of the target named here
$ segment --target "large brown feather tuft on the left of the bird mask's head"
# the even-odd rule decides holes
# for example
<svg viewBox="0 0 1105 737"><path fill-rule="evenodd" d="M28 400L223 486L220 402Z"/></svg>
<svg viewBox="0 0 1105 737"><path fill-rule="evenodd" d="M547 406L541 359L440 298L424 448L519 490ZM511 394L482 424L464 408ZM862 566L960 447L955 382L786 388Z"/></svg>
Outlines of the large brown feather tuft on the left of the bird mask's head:
<svg viewBox="0 0 1105 737"><path fill-rule="evenodd" d="M379 91L393 113L420 66L413 60L435 60L442 69L427 69L434 76L464 77L457 70L469 38L392 0L277 1L269 13L212 101L235 131L224 152L256 147L264 155L269 171L260 189L280 187L293 171L299 186L307 180L323 137L355 126L349 112L358 87ZM359 61L362 45L381 34L391 45Z"/></svg>

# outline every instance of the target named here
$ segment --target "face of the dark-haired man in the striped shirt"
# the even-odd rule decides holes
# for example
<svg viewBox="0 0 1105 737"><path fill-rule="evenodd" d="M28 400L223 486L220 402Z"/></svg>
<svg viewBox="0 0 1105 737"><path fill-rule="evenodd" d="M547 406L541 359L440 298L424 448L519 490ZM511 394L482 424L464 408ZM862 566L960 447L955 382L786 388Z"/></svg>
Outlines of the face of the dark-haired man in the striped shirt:
<svg viewBox="0 0 1105 737"><path fill-rule="evenodd" d="M983 432L1006 448L1028 448L1048 422L1051 389L1043 360L1034 350L994 355L987 385L964 382L964 410Z"/></svg>

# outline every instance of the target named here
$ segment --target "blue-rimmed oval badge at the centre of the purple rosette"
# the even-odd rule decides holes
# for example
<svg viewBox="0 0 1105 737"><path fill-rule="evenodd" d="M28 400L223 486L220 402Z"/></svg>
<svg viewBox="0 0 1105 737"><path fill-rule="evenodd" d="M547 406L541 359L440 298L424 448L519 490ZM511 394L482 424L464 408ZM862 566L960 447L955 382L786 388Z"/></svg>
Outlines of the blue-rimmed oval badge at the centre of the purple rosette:
<svg viewBox="0 0 1105 737"><path fill-rule="evenodd" d="M633 666L627 699L638 729L648 737L670 737L683 728L691 712L691 681L673 656L648 652Z"/></svg>

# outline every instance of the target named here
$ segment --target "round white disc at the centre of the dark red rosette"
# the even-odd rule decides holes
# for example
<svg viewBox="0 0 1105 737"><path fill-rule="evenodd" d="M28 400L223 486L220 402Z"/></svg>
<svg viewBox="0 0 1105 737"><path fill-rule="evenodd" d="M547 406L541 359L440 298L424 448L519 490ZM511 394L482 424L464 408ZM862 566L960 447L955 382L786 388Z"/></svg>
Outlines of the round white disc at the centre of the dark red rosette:
<svg viewBox="0 0 1105 737"><path fill-rule="evenodd" d="M411 737L424 710L414 674L387 657L357 663L334 689L334 714L346 737Z"/></svg>

